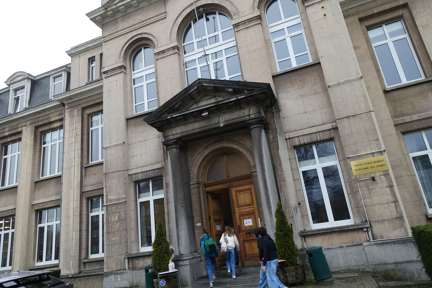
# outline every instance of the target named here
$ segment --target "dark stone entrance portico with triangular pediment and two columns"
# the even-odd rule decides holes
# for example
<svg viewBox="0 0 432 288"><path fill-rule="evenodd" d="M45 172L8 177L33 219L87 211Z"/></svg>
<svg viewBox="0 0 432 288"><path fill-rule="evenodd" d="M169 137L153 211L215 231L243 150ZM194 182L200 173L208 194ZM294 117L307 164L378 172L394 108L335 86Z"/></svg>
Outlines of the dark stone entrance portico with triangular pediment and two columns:
<svg viewBox="0 0 432 288"><path fill-rule="evenodd" d="M203 227L209 225L208 212L199 211L193 205L192 197L195 194L191 193L191 189L203 189L204 179L191 179L188 161L191 161L191 154L197 155L198 152L188 151L188 143L238 131L248 134L253 146L253 152L249 148L248 150L254 163L254 168L251 167L252 178L258 184L256 190L259 190L259 208L262 208L261 223L265 223L268 233L273 235L273 213L278 192L265 134L267 121L273 119L267 120L265 113L277 109L276 106L276 98L268 83L197 79L144 119L162 132L165 139L162 144L167 151L165 167L168 168L170 187L171 244L183 285L190 285L191 281L201 276L198 274L203 270L197 252L199 243L191 239L195 237L198 241L202 228L210 229L210 226ZM242 145L241 138L235 139L235 142L238 142L238 146ZM216 154L222 153L213 151ZM245 149L237 151L241 153ZM201 196L204 195L203 192L201 190ZM206 203L203 205L206 206ZM196 209L199 213L195 213ZM201 227L196 226L198 223L201 223Z"/></svg>

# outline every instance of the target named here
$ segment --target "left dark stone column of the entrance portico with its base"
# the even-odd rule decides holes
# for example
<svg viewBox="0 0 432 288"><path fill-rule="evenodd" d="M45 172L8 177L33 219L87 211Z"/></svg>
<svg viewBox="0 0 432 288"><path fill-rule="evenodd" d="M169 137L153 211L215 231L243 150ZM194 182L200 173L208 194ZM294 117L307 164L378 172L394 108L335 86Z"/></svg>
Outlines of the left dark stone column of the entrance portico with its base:
<svg viewBox="0 0 432 288"><path fill-rule="evenodd" d="M191 206L191 196L184 189L183 167L181 165L180 147L183 142L172 139L162 142L168 152L169 197L171 202L171 231L174 243L174 258L176 268L180 273L181 285L190 286L195 277L203 273L200 264L201 256L197 252L191 253L191 240L195 235L190 233L187 222L187 207ZM200 273L201 272L201 273Z"/></svg>

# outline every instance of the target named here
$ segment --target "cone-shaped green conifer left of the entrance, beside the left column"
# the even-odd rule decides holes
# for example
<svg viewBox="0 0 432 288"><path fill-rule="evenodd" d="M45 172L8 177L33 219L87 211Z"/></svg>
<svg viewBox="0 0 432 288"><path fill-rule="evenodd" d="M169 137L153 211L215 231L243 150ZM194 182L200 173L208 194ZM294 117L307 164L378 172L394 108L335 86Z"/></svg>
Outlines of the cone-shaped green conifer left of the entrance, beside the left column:
<svg viewBox="0 0 432 288"><path fill-rule="evenodd" d="M168 240L166 240L166 231L162 220L159 220L156 226L155 241L152 247L153 273L157 276L160 272L168 271L169 260L171 260L171 249Z"/></svg>

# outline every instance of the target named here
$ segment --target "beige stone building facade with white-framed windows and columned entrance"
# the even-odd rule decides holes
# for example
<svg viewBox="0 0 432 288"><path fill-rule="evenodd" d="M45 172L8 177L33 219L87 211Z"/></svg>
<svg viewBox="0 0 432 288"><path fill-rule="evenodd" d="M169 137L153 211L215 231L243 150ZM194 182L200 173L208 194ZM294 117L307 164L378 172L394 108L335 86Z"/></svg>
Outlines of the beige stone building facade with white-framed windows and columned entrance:
<svg viewBox="0 0 432 288"><path fill-rule="evenodd" d="M254 264L250 231L273 235L281 201L332 271L426 277L410 227L432 223L431 3L102 0L87 16L102 36L69 65L0 90L2 272L144 287L161 219L190 286L203 228L232 225Z"/></svg>

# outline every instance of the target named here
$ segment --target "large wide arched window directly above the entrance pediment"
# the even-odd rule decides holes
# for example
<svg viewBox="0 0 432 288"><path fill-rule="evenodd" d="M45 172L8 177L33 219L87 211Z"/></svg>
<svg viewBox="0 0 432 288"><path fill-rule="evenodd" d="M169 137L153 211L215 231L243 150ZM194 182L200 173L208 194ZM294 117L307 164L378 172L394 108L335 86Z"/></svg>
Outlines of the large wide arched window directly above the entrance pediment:
<svg viewBox="0 0 432 288"><path fill-rule="evenodd" d="M187 85L198 78L241 80L231 19L220 12L201 14L187 25L183 53Z"/></svg>

